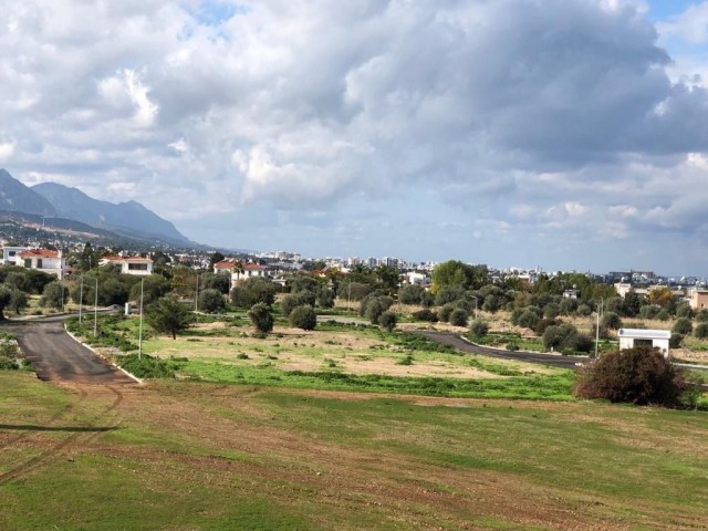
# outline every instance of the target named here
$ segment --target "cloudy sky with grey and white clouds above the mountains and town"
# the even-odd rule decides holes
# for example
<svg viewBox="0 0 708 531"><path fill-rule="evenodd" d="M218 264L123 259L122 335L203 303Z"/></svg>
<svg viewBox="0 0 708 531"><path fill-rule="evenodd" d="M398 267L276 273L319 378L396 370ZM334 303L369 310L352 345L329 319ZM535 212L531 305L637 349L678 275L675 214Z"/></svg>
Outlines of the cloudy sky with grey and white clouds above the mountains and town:
<svg viewBox="0 0 708 531"><path fill-rule="evenodd" d="M0 167L192 240L708 275L708 1L0 10Z"/></svg>

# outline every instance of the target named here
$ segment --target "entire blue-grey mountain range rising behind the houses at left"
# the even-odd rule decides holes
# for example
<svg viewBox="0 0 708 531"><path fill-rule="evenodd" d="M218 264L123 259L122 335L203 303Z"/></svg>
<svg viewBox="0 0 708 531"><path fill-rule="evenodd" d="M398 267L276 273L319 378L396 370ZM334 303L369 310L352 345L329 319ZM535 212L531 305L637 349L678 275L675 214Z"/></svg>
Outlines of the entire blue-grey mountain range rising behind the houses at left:
<svg viewBox="0 0 708 531"><path fill-rule="evenodd" d="M101 201L76 188L56 183L28 187L6 169L0 169L0 210L71 219L136 240L158 239L174 244L192 243L171 222L139 202L126 201L116 205Z"/></svg>

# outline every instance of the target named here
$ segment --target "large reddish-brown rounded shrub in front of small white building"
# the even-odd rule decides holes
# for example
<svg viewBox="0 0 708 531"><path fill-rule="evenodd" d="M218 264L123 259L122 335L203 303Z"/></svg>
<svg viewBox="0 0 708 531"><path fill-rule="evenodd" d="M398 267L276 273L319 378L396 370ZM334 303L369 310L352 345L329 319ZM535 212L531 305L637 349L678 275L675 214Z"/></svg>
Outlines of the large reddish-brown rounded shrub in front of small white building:
<svg viewBox="0 0 708 531"><path fill-rule="evenodd" d="M685 373L655 348L634 347L603 355L576 375L573 395L613 403L681 405Z"/></svg>

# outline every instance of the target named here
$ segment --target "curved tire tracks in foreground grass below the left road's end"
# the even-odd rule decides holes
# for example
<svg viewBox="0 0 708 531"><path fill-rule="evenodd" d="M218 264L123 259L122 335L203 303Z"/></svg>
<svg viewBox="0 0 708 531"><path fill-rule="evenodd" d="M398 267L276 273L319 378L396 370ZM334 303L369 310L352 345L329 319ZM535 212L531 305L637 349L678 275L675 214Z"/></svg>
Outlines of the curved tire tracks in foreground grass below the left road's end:
<svg viewBox="0 0 708 531"><path fill-rule="evenodd" d="M77 427L80 429L86 429L86 431L74 431L70 434L65 439L54 444L52 447L48 448L46 450L22 462L21 465L15 466L14 468L8 470L7 472L1 473L0 486L3 483L7 483L8 481L17 479L21 476L24 476L33 470L37 470L43 466L46 466L46 465L50 465L51 462L56 461L69 449L71 449L73 446L76 446L76 444L88 442L95 439L96 437L98 437L101 434L103 434L105 430L102 428L98 428L97 424L100 421L105 423L106 420L116 420L118 416L114 412L121 405L124 398L123 393L118 391L116 387L105 386L104 388L110 389L115 395L114 399L105 409L103 409L98 414L95 414L93 420ZM75 405L83 402L87 396L88 396L87 391L84 388L80 388L80 399ZM72 409L74 408L73 407L69 408L69 410L72 410ZM60 412L60 413L67 413L67 412ZM59 418L61 418L59 414L55 415L55 417L56 418L54 418L54 420L59 420ZM98 428L98 429L93 429L92 431L92 428ZM23 434L23 436L19 437L19 440L30 439L31 435L33 434ZM3 445L3 446L7 446L7 445Z"/></svg>

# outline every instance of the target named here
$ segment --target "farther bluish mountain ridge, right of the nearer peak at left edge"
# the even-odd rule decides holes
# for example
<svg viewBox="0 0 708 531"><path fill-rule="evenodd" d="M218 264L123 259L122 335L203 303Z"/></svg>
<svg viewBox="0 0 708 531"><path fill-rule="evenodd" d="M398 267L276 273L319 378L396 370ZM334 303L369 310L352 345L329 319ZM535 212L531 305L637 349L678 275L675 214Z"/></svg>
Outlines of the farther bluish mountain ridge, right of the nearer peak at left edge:
<svg viewBox="0 0 708 531"><path fill-rule="evenodd" d="M173 223L136 201L118 205L100 201L76 188L55 183L43 183L31 189L44 197L62 218L75 219L92 227L126 236L159 237L181 243L189 241Z"/></svg>

